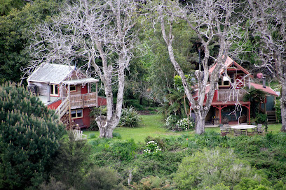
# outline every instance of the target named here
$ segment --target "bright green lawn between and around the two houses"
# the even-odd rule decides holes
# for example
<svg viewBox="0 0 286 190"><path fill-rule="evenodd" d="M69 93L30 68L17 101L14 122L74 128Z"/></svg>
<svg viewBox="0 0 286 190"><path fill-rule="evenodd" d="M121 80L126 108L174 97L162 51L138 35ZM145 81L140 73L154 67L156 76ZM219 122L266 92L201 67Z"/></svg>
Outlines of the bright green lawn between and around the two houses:
<svg viewBox="0 0 286 190"><path fill-rule="evenodd" d="M148 136L159 137L159 136L181 136L182 134L193 136L195 132L191 131L182 131L182 132L172 132L167 131L163 124L163 115L141 115L142 118L141 124L136 128L128 127L116 127L114 129L114 139L127 140L134 139L135 142L144 142L145 138ZM279 133L281 129L281 124L271 124L268 125L268 132ZM214 131L220 133L219 127L205 128L205 131ZM99 131L84 131L84 134L88 135L88 138L97 138L100 136Z"/></svg>

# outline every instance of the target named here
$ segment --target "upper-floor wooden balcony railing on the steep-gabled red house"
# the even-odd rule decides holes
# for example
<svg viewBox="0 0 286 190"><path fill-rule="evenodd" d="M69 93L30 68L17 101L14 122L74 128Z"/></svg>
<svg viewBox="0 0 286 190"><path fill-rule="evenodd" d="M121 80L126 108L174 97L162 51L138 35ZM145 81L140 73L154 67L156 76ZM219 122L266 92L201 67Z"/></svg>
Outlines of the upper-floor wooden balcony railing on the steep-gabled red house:
<svg viewBox="0 0 286 190"><path fill-rule="evenodd" d="M243 101L246 93L245 89L219 89L217 101Z"/></svg>

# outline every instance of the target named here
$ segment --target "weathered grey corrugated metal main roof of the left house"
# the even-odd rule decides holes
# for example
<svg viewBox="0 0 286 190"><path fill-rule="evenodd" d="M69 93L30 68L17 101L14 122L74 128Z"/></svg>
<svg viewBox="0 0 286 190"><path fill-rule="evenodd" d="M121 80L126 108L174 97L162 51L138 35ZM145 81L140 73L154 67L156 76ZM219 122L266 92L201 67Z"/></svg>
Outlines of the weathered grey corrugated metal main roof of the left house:
<svg viewBox="0 0 286 190"><path fill-rule="evenodd" d="M39 66L31 75L29 75L28 81L34 82L49 82L60 84L66 79L71 71L74 71L75 66L67 66L60 64L43 64Z"/></svg>

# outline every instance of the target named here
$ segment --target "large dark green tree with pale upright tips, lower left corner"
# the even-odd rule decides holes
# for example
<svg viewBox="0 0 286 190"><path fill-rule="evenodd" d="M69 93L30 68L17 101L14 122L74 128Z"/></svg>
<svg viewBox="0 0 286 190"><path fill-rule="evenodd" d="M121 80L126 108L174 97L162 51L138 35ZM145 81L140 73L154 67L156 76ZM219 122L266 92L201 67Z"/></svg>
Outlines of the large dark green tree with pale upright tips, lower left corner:
<svg viewBox="0 0 286 190"><path fill-rule="evenodd" d="M36 187L48 177L64 127L23 87L0 86L0 189Z"/></svg>

